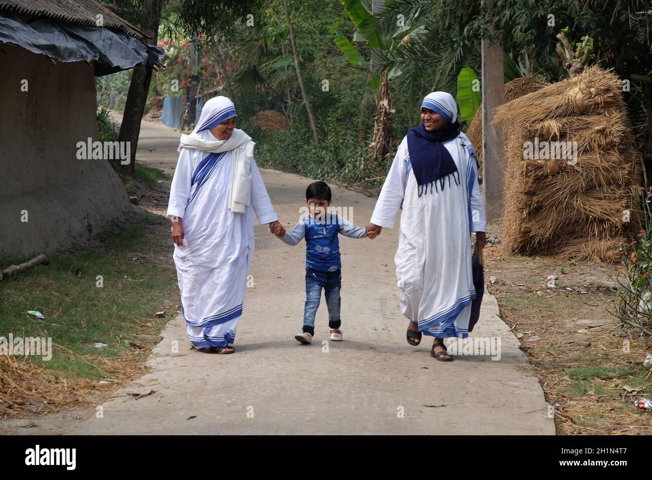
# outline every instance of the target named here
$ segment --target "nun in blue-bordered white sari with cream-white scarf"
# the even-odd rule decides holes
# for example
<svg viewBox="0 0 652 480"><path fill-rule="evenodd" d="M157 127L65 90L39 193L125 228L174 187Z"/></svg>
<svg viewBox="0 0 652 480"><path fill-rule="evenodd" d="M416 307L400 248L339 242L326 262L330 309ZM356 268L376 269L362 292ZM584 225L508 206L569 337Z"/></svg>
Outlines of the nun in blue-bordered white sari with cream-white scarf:
<svg viewBox="0 0 652 480"><path fill-rule="evenodd" d="M181 135L168 218L181 311L197 349L233 353L228 344L254 257L254 212L271 231L278 224L253 148L250 136L235 128L226 97L207 101L194 131Z"/></svg>

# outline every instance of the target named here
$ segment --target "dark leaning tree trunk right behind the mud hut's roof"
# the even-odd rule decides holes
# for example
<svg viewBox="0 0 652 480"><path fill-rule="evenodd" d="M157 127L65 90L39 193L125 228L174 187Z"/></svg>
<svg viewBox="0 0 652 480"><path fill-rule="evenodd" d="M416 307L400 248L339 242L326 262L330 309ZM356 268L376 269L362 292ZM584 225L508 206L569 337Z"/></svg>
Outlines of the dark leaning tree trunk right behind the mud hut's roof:
<svg viewBox="0 0 652 480"><path fill-rule="evenodd" d="M141 31L149 36L149 40L156 44L158 41L158 24L161 18L161 8L164 0L143 0L143 23ZM126 165L120 165L120 173L134 176L136 172L136 148L138 148L138 136L140 135L140 121L145 111L149 84L152 80L153 69L151 65L139 65L134 67L129 93L126 96L125 114L120 127L120 142L130 142L130 159Z"/></svg>

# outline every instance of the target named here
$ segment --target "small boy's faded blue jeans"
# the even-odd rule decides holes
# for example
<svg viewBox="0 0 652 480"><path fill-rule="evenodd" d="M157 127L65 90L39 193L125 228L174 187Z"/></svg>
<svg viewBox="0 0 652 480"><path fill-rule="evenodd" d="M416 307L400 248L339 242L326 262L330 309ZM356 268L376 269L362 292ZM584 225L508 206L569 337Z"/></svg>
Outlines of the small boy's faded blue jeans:
<svg viewBox="0 0 652 480"><path fill-rule="evenodd" d="M319 272L306 268L306 306L303 312L303 331L315 334L315 313L324 289L328 308L329 327L340 328L340 289L342 288L342 270Z"/></svg>

